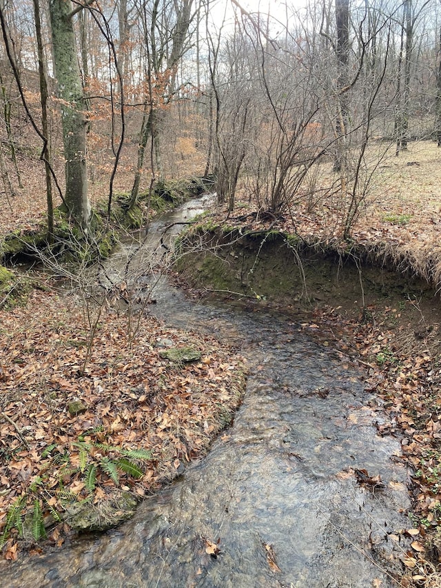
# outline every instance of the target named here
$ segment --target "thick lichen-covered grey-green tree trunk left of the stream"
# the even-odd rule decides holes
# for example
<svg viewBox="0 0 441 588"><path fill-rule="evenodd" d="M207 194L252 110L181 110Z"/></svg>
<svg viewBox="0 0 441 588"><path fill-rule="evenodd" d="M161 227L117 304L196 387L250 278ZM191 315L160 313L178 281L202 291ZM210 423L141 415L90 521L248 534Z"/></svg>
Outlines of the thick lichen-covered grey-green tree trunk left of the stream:
<svg viewBox="0 0 441 588"><path fill-rule="evenodd" d="M87 230L90 223L88 172L85 159L85 101L76 56L70 0L50 0L50 26L54 65L61 103L65 157L65 203L76 223Z"/></svg>

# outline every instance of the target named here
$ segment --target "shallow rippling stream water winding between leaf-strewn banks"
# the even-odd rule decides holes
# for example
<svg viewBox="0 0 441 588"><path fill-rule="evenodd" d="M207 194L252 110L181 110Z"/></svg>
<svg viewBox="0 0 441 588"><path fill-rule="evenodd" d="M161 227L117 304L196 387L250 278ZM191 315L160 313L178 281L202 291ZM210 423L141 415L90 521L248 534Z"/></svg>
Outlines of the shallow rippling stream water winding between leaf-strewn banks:
<svg viewBox="0 0 441 588"><path fill-rule="evenodd" d="M165 216L152 234L179 218ZM165 278L154 297L156 316L217 334L247 357L234 423L132 520L51 554L2 562L1 585L398 585L409 472L399 440L377 432L384 414L360 373L301 332L295 316L195 303ZM384 487L363 485L354 469L380 476Z"/></svg>

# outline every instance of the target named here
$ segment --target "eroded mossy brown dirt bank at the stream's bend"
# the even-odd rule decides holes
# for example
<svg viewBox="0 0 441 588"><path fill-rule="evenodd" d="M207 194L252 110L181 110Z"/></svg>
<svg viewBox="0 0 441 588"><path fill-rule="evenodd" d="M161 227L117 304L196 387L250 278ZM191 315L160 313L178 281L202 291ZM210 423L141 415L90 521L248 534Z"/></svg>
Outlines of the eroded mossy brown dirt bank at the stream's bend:
<svg viewBox="0 0 441 588"><path fill-rule="evenodd" d="M198 293L283 305L294 312L329 305L362 313L418 301L439 314L435 287L391 263L315 250L279 232L199 227L178 243L176 270Z"/></svg>

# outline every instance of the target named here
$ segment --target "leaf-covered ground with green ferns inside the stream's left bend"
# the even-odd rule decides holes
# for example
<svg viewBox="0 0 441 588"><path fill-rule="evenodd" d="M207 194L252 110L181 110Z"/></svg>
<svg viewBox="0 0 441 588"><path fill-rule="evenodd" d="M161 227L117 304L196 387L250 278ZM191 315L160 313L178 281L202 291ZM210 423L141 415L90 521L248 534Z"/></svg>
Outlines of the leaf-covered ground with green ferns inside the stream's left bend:
<svg viewBox="0 0 441 588"><path fill-rule="evenodd" d="M91 345L96 318L54 290L35 290L27 305L0 311L6 558L17 558L19 535L28 547L46 532L61 545L72 503L99 518L115 496L141 499L160 488L207 451L240 403L243 363L231 349L151 316L136 317L134 333L127 316L110 310ZM201 358L169 361L161 357L168 347L191 347ZM116 500L116 522L119 509Z"/></svg>

